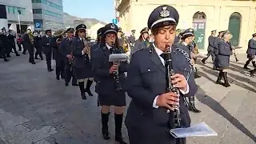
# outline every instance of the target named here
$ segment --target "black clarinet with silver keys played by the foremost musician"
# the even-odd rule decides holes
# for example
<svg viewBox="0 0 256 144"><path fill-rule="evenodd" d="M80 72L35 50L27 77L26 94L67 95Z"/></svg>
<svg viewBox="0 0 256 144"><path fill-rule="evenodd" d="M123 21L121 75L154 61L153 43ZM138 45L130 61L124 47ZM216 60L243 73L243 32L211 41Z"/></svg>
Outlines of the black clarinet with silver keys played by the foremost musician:
<svg viewBox="0 0 256 144"><path fill-rule="evenodd" d="M170 47L166 45L166 48ZM172 59L171 59L171 50L170 48L164 53L165 59L165 67L166 67L166 93L173 92L179 95L178 88L174 87L173 84L170 82L170 77L174 75L174 70L172 69ZM179 106L172 106L174 107L174 111L167 110L166 112L169 113L169 126L170 129L179 128L180 127L180 110Z"/></svg>

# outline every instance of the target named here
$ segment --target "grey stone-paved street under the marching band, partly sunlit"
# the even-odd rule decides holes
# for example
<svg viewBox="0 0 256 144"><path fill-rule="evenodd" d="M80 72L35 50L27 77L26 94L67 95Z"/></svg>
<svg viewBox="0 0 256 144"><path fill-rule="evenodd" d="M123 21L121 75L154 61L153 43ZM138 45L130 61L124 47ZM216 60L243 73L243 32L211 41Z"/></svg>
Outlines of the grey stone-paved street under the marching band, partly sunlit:
<svg viewBox="0 0 256 144"><path fill-rule="evenodd" d="M188 144L256 143L256 78L242 70L232 57L231 86L214 84L218 73L209 63L199 63L198 101L201 114L190 114L192 122L206 122L218 137L189 138ZM54 62L53 62L54 63ZM94 86L93 86L94 87ZM114 143L114 119L110 119L111 142L102 140L97 97L83 101L78 87L64 86L47 72L46 61L28 63L28 55L0 59L0 144L107 144ZM127 98L128 99L128 98ZM123 129L126 136L126 130Z"/></svg>

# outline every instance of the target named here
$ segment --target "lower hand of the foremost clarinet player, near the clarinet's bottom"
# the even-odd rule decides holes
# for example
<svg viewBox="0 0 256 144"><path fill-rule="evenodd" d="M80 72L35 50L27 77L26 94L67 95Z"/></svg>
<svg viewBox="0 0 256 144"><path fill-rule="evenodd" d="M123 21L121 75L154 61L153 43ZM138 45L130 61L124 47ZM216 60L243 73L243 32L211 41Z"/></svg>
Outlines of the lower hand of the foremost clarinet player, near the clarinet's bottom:
<svg viewBox="0 0 256 144"><path fill-rule="evenodd" d="M174 110L173 106L178 106L179 96L173 92L161 94L157 98L157 106L166 107L169 110Z"/></svg>

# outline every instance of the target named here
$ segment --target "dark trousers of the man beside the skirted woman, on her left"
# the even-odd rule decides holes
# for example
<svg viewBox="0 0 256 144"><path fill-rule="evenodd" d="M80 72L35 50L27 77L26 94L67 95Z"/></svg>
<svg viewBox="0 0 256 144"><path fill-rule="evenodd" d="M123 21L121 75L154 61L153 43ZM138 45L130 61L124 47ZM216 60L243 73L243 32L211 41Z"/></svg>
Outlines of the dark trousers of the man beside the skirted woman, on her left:
<svg viewBox="0 0 256 144"><path fill-rule="evenodd" d="M74 70L70 62L65 63L65 82L69 83L72 78L72 84L77 84L77 78L74 75Z"/></svg>

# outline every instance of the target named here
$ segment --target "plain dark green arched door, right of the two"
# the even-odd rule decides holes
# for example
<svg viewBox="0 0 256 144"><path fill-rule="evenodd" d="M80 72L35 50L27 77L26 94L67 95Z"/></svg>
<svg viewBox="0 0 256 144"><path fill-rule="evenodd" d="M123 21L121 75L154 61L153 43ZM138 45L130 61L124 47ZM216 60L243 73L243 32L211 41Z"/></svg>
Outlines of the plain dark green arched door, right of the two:
<svg viewBox="0 0 256 144"><path fill-rule="evenodd" d="M241 21L241 14L235 12L230 15L229 30L233 35L233 38L230 39L230 42L232 43L233 46L239 45Z"/></svg>

